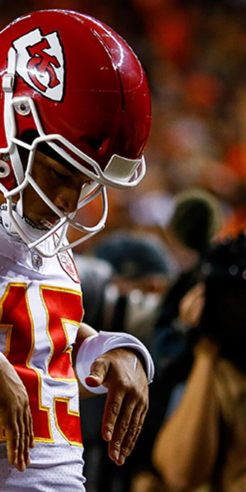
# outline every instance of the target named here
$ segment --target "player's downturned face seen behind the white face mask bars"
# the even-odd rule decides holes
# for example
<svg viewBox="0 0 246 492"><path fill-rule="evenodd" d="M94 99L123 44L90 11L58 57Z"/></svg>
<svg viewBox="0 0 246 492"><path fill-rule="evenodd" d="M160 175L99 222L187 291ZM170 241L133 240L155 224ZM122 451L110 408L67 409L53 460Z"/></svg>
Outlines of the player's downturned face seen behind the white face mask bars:
<svg viewBox="0 0 246 492"><path fill-rule="evenodd" d="M90 182L88 176L74 167L56 162L40 152L35 155L32 177L65 214L76 210L81 188ZM47 220L54 224L58 218L30 185L23 192L23 211L36 226L42 226Z"/></svg>

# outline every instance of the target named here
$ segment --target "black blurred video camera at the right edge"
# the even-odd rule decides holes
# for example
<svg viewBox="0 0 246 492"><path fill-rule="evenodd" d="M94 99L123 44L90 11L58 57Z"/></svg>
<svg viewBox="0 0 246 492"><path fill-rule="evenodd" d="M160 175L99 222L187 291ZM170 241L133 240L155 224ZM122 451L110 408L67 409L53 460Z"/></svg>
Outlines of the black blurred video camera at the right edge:
<svg viewBox="0 0 246 492"><path fill-rule="evenodd" d="M246 371L246 236L209 248L201 262L206 300L199 332L217 340L221 356Z"/></svg>

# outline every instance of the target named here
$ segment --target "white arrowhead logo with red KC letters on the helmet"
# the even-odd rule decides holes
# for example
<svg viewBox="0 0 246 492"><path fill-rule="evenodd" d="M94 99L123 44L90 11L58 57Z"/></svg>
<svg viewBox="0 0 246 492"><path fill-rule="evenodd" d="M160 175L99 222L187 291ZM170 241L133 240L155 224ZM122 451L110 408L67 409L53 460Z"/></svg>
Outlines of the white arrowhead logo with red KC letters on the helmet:
<svg viewBox="0 0 246 492"><path fill-rule="evenodd" d="M44 36L37 28L16 39L13 47L17 74L43 96L60 101L65 87L65 59L58 33Z"/></svg>

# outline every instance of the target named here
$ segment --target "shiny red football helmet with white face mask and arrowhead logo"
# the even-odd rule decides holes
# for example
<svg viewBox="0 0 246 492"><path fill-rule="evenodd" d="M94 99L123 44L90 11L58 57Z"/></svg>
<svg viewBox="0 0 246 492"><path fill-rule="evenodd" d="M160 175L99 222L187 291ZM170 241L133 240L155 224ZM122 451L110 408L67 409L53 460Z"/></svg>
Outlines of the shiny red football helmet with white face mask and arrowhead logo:
<svg viewBox="0 0 246 492"><path fill-rule="evenodd" d="M55 231L51 253L98 232L107 218L106 186L135 186L145 174L143 152L151 122L144 70L129 45L98 20L67 10L43 10L16 19L0 32L0 191L14 230L38 252ZM32 178L37 146L46 144L89 179L78 209L101 194L103 213L86 227L61 212ZM19 147L29 151L27 166ZM27 185L60 217L33 240L23 228L22 191ZM12 197L20 199L14 211ZM84 194L84 195L83 195ZM68 226L86 234L69 246Z"/></svg>

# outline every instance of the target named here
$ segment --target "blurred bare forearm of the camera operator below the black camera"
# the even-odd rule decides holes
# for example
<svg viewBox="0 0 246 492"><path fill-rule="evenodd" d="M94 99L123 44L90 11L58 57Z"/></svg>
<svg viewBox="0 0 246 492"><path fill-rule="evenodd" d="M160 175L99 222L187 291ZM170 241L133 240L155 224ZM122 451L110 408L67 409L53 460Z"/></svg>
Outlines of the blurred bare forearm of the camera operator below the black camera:
<svg viewBox="0 0 246 492"><path fill-rule="evenodd" d="M156 438L153 463L178 490L202 483L214 466L218 447L214 365L212 354L197 356L185 394Z"/></svg>

